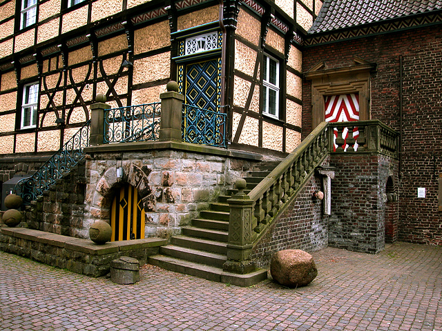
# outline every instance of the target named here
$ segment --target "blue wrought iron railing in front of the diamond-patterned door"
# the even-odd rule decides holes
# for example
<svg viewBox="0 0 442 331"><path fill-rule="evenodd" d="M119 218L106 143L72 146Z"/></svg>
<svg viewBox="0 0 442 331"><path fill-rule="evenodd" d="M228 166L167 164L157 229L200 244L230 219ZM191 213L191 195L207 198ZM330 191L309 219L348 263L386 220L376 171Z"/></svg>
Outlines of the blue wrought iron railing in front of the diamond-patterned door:
<svg viewBox="0 0 442 331"><path fill-rule="evenodd" d="M227 114L183 104L182 140L186 143L226 147Z"/></svg>

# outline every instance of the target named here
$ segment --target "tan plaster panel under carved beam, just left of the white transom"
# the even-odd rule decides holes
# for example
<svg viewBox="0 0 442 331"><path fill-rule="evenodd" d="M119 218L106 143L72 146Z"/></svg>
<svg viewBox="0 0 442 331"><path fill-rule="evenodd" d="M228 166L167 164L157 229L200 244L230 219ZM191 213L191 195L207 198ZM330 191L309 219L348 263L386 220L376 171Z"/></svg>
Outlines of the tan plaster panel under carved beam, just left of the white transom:
<svg viewBox="0 0 442 331"><path fill-rule="evenodd" d="M146 26L146 28L135 30L133 34L135 54L157 50L171 44L169 21L162 21L152 26Z"/></svg>

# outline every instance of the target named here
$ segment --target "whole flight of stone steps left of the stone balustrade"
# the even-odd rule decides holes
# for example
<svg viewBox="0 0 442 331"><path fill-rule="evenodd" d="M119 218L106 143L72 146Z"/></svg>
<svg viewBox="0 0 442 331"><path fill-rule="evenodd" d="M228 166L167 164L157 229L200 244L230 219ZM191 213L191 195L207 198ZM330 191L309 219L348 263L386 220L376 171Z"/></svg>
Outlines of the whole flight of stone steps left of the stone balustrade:
<svg viewBox="0 0 442 331"><path fill-rule="evenodd" d="M278 161L262 162L256 171L251 171L247 181L247 194L267 174L278 165ZM182 235L171 238L171 244L160 248L160 254L149 257L148 263L161 268L182 272L192 276L249 286L267 279L267 270L256 270L249 274L224 272L222 265L227 261L227 241L229 237L229 203L236 189L227 190L211 203L209 210L200 212L200 217L192 219L191 225L183 228Z"/></svg>

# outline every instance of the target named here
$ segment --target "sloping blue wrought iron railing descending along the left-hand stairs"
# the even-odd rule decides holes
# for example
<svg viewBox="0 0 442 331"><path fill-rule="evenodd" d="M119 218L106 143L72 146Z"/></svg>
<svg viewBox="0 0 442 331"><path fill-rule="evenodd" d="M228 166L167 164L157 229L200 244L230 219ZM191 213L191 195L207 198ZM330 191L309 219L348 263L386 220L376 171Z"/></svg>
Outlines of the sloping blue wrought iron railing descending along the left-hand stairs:
<svg viewBox="0 0 442 331"><path fill-rule="evenodd" d="M14 190L24 204L35 200L84 158L84 148L89 146L89 130L90 121L87 121L35 174L15 185Z"/></svg>

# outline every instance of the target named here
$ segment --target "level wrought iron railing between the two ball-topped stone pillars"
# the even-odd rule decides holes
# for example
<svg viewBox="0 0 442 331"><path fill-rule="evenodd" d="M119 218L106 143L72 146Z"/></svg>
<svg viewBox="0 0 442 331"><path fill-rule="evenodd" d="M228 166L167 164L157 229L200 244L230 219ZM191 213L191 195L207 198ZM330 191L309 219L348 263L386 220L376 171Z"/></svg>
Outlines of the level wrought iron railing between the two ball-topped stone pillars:
<svg viewBox="0 0 442 331"><path fill-rule="evenodd" d="M161 103L104 110L104 143L159 139Z"/></svg>

